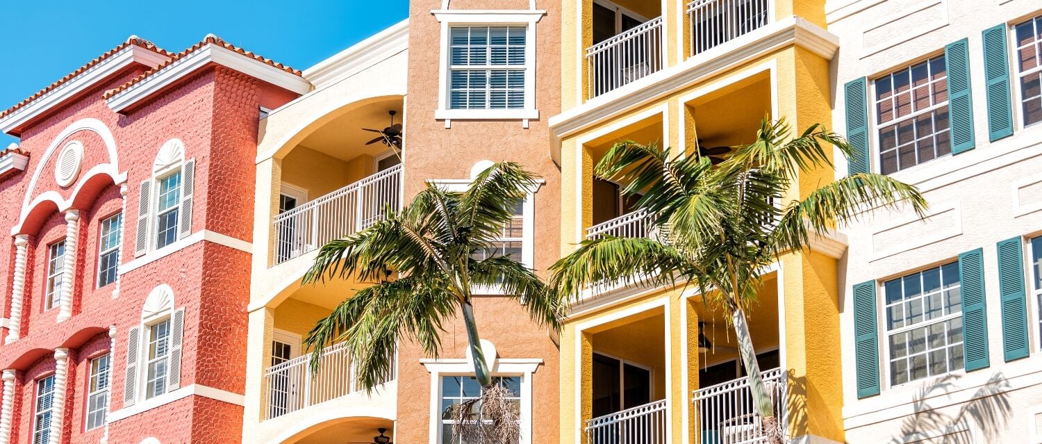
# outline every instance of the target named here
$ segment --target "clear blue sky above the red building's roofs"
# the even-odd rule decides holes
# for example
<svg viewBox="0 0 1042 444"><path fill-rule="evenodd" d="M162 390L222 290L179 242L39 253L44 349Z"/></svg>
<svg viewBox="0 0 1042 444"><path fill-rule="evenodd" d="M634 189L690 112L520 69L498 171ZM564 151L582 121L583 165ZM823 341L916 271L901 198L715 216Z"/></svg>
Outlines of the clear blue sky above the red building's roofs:
<svg viewBox="0 0 1042 444"><path fill-rule="evenodd" d="M408 16L407 0L9 1L0 109L135 34L179 52L207 33L303 70ZM0 134L0 149L17 139Z"/></svg>

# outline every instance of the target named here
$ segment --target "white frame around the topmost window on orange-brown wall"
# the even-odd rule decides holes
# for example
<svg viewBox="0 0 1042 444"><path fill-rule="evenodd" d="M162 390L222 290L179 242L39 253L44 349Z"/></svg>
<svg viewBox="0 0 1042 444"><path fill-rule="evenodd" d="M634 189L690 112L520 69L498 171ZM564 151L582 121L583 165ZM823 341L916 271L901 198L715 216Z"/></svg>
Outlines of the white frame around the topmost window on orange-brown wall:
<svg viewBox="0 0 1042 444"><path fill-rule="evenodd" d="M433 9L430 11L441 23L439 45L438 109L436 120L444 120L445 127L452 120L521 120L539 119L536 107L536 23L546 15L543 9ZM526 26L525 31L525 92L524 106L520 109L450 109L449 95L449 33L453 26Z"/></svg>

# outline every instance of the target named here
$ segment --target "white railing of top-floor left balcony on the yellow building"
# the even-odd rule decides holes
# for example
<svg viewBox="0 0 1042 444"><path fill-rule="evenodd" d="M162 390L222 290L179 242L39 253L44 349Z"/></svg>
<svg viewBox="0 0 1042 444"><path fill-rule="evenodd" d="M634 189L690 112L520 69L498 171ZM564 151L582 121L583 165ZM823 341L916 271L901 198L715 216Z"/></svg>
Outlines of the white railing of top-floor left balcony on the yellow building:
<svg viewBox="0 0 1042 444"><path fill-rule="evenodd" d="M663 60L662 17L587 48L593 98L659 71Z"/></svg>

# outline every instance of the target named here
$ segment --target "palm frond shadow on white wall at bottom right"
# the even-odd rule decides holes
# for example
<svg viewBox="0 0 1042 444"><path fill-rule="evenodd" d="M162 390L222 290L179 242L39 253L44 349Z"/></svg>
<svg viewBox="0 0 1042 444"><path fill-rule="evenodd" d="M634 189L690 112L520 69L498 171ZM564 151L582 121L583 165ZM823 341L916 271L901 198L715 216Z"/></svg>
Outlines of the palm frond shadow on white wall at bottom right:
<svg viewBox="0 0 1042 444"><path fill-rule="evenodd" d="M960 377L962 376L943 376L936 383L923 387L915 396L916 413L904 419L899 435L890 442L900 444L927 440L945 444L972 444L976 442L972 433L974 429L979 430L984 442L999 442L999 434L1006 428L1012 413L1010 384L1001 372L992 375L958 412L941 412L938 408L942 405L929 404L931 400L946 403L948 400L946 395L959 390L956 383ZM941 433L947 435L927 438L925 434L932 430L944 430Z"/></svg>

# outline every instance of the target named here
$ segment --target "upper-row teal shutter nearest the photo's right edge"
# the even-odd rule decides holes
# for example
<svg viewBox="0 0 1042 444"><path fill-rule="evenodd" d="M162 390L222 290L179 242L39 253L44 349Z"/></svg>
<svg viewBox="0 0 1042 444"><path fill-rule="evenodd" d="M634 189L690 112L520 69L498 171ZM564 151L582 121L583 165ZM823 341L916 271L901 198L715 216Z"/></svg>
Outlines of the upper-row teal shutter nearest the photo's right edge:
<svg viewBox="0 0 1042 444"><path fill-rule="evenodd" d="M988 85L988 139L994 142L1013 135L1006 23L984 30L984 77Z"/></svg>

